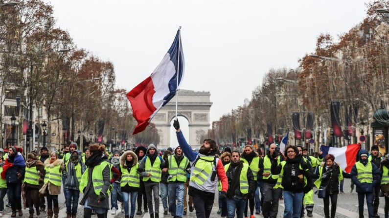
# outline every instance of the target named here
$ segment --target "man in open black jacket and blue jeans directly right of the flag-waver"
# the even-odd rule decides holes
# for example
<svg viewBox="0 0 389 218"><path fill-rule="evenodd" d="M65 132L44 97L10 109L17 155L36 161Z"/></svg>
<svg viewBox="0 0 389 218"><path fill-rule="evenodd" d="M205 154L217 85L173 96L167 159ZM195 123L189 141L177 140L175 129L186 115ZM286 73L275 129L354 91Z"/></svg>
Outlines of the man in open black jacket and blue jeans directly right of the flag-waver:
<svg viewBox="0 0 389 218"><path fill-rule="evenodd" d="M254 196L256 182L249 164L240 160L238 151L231 153L231 163L224 166L229 182L227 191L228 217L243 218L246 201Z"/></svg>

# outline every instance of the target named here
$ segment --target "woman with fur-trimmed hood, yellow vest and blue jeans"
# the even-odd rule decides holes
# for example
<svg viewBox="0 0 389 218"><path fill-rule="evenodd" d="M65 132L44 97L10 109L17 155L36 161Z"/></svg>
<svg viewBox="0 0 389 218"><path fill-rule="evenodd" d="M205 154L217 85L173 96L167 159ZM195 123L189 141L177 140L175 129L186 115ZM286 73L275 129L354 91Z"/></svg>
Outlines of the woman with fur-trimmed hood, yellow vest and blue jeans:
<svg viewBox="0 0 389 218"><path fill-rule="evenodd" d="M139 191L139 167L137 155L132 151L126 151L120 157L121 180L120 187L123 194L125 218L134 218L137 194ZM129 211L129 202L131 202L131 212Z"/></svg>

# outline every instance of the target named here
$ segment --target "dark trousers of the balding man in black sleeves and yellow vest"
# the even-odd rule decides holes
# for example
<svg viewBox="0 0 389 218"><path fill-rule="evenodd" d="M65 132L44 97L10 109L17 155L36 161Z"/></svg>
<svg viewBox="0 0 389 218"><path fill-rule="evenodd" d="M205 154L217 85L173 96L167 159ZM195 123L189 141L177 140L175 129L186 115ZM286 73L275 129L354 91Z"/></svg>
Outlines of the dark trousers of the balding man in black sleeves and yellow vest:
<svg viewBox="0 0 389 218"><path fill-rule="evenodd" d="M276 218L278 214L278 201L281 195L280 188L274 188L275 184L263 184L262 214L264 218Z"/></svg>

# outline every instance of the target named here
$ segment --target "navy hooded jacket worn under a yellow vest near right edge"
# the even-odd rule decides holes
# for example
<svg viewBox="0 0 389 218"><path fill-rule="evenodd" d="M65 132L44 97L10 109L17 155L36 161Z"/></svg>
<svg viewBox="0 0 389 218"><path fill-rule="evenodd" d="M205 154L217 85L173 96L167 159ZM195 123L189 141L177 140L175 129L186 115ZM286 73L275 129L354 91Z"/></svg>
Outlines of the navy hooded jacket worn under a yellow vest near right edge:
<svg viewBox="0 0 389 218"><path fill-rule="evenodd" d="M363 161L361 159L361 155L363 155L363 154L366 154L366 155L368 154L365 149L361 149L358 152L358 157L359 157L359 161L358 162L361 162L362 164L364 164L366 166L366 164L368 162L368 159ZM378 167L375 164L371 164L371 167L373 168L373 170L372 170L373 182L372 183L360 182L358 180L358 171L357 171L356 164L352 167L350 175L351 175L351 180L357 186L357 189L356 189L357 192L359 192L359 193L370 193L370 192L373 192L374 191L374 186L380 183L380 179L381 179L380 170L378 169Z"/></svg>

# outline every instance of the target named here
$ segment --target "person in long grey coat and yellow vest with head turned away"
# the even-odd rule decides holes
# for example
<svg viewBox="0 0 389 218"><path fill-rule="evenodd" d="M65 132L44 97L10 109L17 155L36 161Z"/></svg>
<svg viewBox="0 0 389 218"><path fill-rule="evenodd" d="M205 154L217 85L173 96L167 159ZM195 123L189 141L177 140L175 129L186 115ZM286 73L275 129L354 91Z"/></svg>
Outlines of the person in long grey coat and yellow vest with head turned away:
<svg viewBox="0 0 389 218"><path fill-rule="evenodd" d="M91 157L85 161L88 168L80 182L80 192L84 193L80 201L80 204L84 206L84 218L90 218L92 210L96 210L97 218L105 218L110 209L109 194L112 173L108 158L103 153L104 149L104 145L89 146Z"/></svg>

